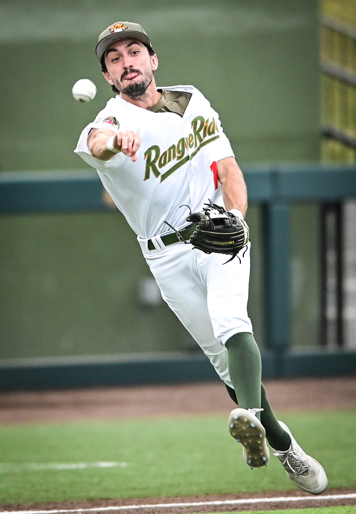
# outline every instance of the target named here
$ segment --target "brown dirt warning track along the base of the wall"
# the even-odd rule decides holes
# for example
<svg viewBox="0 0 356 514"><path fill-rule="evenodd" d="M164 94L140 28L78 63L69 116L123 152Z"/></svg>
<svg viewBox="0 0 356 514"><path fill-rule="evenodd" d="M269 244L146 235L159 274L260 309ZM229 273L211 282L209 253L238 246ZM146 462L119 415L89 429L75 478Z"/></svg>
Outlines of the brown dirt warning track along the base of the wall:
<svg viewBox="0 0 356 514"><path fill-rule="evenodd" d="M276 411L356 409L356 376L265 380ZM223 382L0 392L0 424L228 413Z"/></svg>

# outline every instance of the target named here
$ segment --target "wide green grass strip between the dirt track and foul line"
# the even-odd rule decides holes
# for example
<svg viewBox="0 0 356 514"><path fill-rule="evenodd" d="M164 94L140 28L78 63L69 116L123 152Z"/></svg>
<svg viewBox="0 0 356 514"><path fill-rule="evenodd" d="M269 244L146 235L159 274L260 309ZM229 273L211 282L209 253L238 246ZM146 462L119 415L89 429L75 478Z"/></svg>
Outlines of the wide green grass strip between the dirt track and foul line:
<svg viewBox="0 0 356 514"><path fill-rule="evenodd" d="M329 487L354 487L356 411L281 415L303 448L320 460ZM271 457L251 471L226 416L0 427L0 503L175 497L290 490ZM126 462L126 467L31 470L28 463Z"/></svg>

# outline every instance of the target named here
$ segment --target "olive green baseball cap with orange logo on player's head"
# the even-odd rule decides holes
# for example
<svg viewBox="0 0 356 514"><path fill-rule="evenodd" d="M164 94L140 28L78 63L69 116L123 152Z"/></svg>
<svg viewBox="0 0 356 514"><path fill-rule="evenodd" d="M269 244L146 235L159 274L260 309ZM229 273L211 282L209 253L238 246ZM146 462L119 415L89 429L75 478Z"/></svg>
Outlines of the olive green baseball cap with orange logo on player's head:
<svg viewBox="0 0 356 514"><path fill-rule="evenodd" d="M136 39L152 46L148 35L138 23L115 22L100 34L95 48L97 57L101 60L107 47L119 39Z"/></svg>

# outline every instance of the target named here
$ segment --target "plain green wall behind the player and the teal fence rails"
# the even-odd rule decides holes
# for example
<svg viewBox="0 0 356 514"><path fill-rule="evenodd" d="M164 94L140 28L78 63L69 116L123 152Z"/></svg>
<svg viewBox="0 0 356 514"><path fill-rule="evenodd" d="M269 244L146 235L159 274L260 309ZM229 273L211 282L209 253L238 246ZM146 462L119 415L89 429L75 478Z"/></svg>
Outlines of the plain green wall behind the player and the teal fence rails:
<svg viewBox="0 0 356 514"><path fill-rule="evenodd" d="M160 60L159 85L194 84L210 99L242 168L319 159L314 0L2 0L2 171L86 167L74 146L111 96L95 43L120 20L148 32ZM89 104L71 97L80 78L97 85ZM258 207L250 206L248 221L250 316L263 345ZM317 344L318 208L293 208L292 223L292 342ZM302 243L305 226L315 238L313 251ZM195 348L168 307L140 303L149 271L120 213L1 216L0 237L0 359Z"/></svg>

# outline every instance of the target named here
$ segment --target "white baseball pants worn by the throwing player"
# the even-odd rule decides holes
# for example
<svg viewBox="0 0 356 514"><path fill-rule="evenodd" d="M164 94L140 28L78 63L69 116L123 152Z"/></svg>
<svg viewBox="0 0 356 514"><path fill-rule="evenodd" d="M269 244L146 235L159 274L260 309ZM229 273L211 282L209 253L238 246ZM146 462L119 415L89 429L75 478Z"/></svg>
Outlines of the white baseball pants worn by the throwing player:
<svg viewBox="0 0 356 514"><path fill-rule="evenodd" d="M137 237L150 270L182 324L200 345L216 373L233 388L226 341L238 332L252 333L247 315L250 243L228 264L230 255L206 254L190 244L162 242L148 250Z"/></svg>

